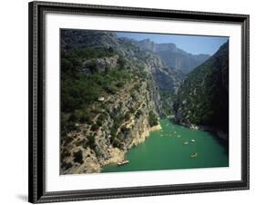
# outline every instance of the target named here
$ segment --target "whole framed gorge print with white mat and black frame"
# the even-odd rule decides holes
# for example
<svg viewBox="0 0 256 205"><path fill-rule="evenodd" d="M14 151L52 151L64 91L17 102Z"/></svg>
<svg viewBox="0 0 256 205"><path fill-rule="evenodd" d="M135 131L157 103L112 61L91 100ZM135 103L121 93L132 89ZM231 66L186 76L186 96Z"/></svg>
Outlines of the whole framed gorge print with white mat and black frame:
<svg viewBox="0 0 256 205"><path fill-rule="evenodd" d="M29 3L29 201L249 189L249 15Z"/></svg>

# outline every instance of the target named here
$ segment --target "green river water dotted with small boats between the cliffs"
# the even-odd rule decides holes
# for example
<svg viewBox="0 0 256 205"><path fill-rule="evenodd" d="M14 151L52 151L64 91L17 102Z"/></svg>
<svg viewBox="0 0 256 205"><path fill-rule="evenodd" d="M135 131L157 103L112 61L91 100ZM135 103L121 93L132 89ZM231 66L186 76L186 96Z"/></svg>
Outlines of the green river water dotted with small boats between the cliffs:
<svg viewBox="0 0 256 205"><path fill-rule="evenodd" d="M160 124L162 130L150 132L145 142L126 153L127 164L109 164L103 167L102 172L229 166L227 146L210 132L190 130L168 119L160 120ZM190 156L193 153L197 153L194 158Z"/></svg>

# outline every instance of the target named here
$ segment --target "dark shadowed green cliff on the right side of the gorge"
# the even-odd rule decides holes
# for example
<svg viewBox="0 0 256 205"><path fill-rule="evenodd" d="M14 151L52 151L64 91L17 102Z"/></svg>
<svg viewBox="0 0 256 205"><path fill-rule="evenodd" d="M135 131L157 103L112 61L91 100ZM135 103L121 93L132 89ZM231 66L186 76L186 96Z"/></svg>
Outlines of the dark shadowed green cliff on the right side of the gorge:
<svg viewBox="0 0 256 205"><path fill-rule="evenodd" d="M181 123L210 125L229 130L229 42L191 73L179 88L174 103Z"/></svg>

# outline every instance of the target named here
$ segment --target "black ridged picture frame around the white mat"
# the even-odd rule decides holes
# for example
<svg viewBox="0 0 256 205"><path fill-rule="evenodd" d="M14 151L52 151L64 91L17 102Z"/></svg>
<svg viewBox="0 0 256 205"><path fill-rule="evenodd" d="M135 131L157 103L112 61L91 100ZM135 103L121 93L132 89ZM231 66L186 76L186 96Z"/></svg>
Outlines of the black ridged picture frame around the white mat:
<svg viewBox="0 0 256 205"><path fill-rule="evenodd" d="M29 3L29 189L33 203L69 200L98 200L165 194L249 189L249 15L219 14L106 5L51 2ZM158 185L99 190L46 191L45 161L45 42L46 12L81 15L111 15L132 18L241 24L241 181Z"/></svg>

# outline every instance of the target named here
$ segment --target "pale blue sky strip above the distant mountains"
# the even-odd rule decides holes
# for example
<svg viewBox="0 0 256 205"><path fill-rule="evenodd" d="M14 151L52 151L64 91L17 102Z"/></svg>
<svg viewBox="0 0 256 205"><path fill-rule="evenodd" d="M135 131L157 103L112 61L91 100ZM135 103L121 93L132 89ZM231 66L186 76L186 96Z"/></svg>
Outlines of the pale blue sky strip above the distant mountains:
<svg viewBox="0 0 256 205"><path fill-rule="evenodd" d="M221 44L228 41L229 37L200 36L200 35L179 35L179 34L143 34L117 32L118 37L128 37L135 40L150 39L156 44L173 43L180 49L190 54L214 54Z"/></svg>

